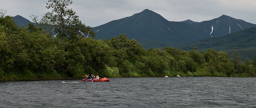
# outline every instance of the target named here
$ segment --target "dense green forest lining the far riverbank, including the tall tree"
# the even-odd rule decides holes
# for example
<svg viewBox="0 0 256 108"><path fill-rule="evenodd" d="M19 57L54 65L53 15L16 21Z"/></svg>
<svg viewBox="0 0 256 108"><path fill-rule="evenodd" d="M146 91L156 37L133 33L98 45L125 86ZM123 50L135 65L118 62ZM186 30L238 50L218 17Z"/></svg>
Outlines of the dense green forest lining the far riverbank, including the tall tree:
<svg viewBox="0 0 256 108"><path fill-rule="evenodd" d="M83 24L69 0L50 0L52 12L28 27L19 27L11 16L0 17L0 81L100 77L255 77L253 60L241 61L239 51L227 53L196 47L182 51L172 47L143 49L125 34L95 40L95 32ZM60 14L54 14L60 13ZM55 36L54 38L52 36Z"/></svg>

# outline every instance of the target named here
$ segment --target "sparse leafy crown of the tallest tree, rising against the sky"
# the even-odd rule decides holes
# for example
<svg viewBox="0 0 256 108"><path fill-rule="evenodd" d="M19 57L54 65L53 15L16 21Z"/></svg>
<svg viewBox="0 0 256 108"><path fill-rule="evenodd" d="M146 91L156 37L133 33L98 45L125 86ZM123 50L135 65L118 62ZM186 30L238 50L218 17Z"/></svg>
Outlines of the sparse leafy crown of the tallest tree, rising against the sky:
<svg viewBox="0 0 256 108"><path fill-rule="evenodd" d="M52 12L45 13L40 23L37 24L47 25L48 29L53 30L53 35L57 34L56 37L62 40L74 37L95 37L92 27L83 24L76 12L68 8L68 5L72 3L72 0L49 0L46 8L52 9ZM33 17L33 20L37 22L37 16ZM38 26L42 27L41 25Z"/></svg>

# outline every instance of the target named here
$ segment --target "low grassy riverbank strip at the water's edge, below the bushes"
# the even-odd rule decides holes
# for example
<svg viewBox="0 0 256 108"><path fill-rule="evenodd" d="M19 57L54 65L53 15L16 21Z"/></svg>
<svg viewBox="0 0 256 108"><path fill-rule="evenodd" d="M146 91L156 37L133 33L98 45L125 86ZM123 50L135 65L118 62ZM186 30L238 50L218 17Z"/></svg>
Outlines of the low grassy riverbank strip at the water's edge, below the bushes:
<svg viewBox="0 0 256 108"><path fill-rule="evenodd" d="M207 72L169 72L165 75L159 75L159 74L141 74L132 72L130 74L125 75L116 75L116 74L100 74L101 77L107 77L107 78L120 78L120 77L176 77L179 75L180 77L251 77L251 76L245 76L243 73L241 74L232 74L230 76L220 73L220 72L214 72L214 73L207 73ZM5 74L0 78L0 81L26 81L26 80L59 80L59 79L73 79L73 78L84 78L84 74L75 75L72 78L69 77L67 74L64 73L58 73L58 72L48 72L48 73L31 73L31 72L11 72L9 74Z"/></svg>

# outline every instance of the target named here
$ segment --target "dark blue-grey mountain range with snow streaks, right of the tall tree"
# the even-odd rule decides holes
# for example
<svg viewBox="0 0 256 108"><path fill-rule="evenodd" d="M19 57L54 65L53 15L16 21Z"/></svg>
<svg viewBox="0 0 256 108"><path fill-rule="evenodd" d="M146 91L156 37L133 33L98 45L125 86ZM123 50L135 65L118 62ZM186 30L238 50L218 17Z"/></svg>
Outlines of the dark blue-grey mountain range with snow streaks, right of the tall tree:
<svg viewBox="0 0 256 108"><path fill-rule="evenodd" d="M93 30L99 30L96 32L96 39L110 39L124 33L129 39L135 39L144 48L148 49L155 48L155 46L164 47L159 44L162 42L165 43L164 45L167 43L191 43L203 38L224 36L251 27L256 27L256 24L226 15L203 22L191 20L173 22L166 20L151 10L145 9L130 17L93 27ZM151 40L150 42L153 41L155 43L147 43L145 42L146 40Z"/></svg>

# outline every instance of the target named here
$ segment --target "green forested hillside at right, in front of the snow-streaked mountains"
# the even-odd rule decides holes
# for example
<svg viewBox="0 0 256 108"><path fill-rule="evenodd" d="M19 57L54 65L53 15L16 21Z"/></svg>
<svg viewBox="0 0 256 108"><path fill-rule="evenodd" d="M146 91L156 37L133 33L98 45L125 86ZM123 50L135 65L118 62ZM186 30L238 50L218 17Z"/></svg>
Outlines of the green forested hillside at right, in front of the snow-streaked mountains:
<svg viewBox="0 0 256 108"><path fill-rule="evenodd" d="M204 38L202 40L183 45L175 45L173 48L185 51L191 51L194 47L198 51L207 51L213 49L215 51L227 52L231 55L235 50L241 52L243 59L252 60L256 54L256 27L230 33L225 36Z"/></svg>

